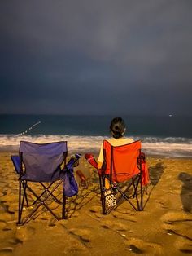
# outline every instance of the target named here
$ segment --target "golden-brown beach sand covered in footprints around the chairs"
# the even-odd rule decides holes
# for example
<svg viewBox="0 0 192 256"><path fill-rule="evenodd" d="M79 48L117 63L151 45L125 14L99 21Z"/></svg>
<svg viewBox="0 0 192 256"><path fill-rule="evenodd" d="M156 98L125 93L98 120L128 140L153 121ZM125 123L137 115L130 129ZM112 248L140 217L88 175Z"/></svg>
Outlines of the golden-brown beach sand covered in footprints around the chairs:
<svg viewBox="0 0 192 256"><path fill-rule="evenodd" d="M192 160L147 157L151 184L144 210L124 201L101 212L98 175L81 157L88 186L68 199L68 219L42 214L17 226L18 177L11 152L0 153L0 255L192 254ZM57 209L59 212L59 208Z"/></svg>

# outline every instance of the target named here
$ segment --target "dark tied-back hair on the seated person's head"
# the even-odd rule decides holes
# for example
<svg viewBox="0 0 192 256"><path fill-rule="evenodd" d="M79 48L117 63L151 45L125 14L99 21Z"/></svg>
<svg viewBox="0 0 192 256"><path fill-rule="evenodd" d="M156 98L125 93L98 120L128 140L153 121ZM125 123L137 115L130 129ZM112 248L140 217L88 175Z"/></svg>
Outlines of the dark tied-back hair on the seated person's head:
<svg viewBox="0 0 192 256"><path fill-rule="evenodd" d="M123 137L125 131L125 123L121 117L115 117L111 120L110 130L115 139Z"/></svg>

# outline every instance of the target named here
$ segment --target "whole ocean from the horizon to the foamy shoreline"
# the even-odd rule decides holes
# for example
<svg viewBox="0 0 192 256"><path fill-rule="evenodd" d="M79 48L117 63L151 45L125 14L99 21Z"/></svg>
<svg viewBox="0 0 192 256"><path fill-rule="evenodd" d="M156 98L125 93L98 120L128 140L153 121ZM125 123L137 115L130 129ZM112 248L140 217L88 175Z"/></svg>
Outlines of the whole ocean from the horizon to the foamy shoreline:
<svg viewBox="0 0 192 256"><path fill-rule="evenodd" d="M192 118L122 116L126 136L142 141L148 156L192 157ZM98 153L110 137L111 116L0 115L0 151L18 151L20 140L67 140L68 151Z"/></svg>

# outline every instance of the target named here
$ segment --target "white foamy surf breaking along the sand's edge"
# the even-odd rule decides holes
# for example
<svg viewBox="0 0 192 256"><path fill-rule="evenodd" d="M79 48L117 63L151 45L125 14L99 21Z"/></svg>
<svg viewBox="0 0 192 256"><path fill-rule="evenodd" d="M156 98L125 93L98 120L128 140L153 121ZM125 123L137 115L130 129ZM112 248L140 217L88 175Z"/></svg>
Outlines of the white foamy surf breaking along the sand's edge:
<svg viewBox="0 0 192 256"><path fill-rule="evenodd" d="M103 136L78 135L0 135L0 151L18 151L20 140L34 143L48 143L60 140L68 141L69 152L99 152ZM142 150L147 155L162 157L192 157L192 139L186 138L133 138L142 140Z"/></svg>

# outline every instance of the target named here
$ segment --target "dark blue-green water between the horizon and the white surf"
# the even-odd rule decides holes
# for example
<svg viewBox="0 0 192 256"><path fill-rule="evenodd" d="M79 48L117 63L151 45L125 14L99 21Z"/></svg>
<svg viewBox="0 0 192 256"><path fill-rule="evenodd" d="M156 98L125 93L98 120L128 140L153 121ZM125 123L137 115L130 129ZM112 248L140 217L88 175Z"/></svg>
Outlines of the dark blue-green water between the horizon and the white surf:
<svg viewBox="0 0 192 256"><path fill-rule="evenodd" d="M0 134L108 135L110 116L0 115ZM123 117L129 135L192 138L190 117Z"/></svg>

